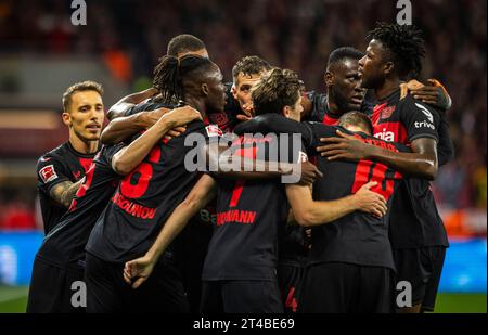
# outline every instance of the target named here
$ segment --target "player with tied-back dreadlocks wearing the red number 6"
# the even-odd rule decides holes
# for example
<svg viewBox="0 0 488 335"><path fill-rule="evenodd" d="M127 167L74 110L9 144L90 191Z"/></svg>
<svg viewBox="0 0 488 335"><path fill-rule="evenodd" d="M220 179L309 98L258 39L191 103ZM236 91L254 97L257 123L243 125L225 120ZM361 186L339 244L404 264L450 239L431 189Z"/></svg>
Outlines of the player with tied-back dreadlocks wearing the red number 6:
<svg viewBox="0 0 488 335"><path fill-rule="evenodd" d="M154 81L163 103L181 100L205 119L211 111L223 109L226 93L221 80L220 69L208 59L185 55L162 57ZM160 107L160 103L153 105ZM171 250L167 250L157 265L153 281L140 291L132 291L124 282L123 269L125 261L140 257L149 249L162 224L196 182L197 171L185 168L185 156L192 146L184 143L192 134L201 134L210 141L221 136L221 131L216 126L193 121L184 134L156 144L150 155L121 180L98 220L86 248L88 312L188 311L185 292Z"/></svg>

